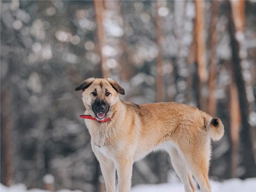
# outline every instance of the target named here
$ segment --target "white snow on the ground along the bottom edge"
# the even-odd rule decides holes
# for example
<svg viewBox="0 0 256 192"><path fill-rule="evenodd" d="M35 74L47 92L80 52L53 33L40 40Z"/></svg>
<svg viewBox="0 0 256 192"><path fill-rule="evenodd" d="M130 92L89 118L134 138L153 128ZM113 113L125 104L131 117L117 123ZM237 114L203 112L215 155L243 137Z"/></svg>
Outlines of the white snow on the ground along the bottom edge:
<svg viewBox="0 0 256 192"><path fill-rule="evenodd" d="M256 192L256 178L240 180L238 178L217 182L211 180L212 192ZM16 184L6 187L1 184L1 192L47 192L46 190L27 190L24 184ZM198 189L197 192L200 190ZM70 191L67 189L58 192L81 192L80 190ZM184 192L182 183L166 183L158 185L137 185L132 188L132 192Z"/></svg>

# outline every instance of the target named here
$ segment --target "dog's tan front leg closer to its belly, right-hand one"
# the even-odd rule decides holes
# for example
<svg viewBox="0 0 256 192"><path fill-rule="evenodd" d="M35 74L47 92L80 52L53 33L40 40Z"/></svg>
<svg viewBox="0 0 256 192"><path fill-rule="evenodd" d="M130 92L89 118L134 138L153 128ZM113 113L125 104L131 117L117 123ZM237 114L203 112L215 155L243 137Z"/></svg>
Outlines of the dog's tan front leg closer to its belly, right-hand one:
<svg viewBox="0 0 256 192"><path fill-rule="evenodd" d="M118 176L118 192L130 192L132 180L132 158L119 160L116 170Z"/></svg>

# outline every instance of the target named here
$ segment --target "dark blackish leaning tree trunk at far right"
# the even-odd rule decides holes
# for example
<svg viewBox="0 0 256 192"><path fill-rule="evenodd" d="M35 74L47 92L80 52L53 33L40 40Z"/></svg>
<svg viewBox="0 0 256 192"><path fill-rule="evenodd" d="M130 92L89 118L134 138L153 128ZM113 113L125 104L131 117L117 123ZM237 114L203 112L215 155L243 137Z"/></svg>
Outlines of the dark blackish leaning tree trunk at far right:
<svg viewBox="0 0 256 192"><path fill-rule="evenodd" d="M250 124L248 122L249 117L249 104L246 94L246 86L242 76L241 58L240 58L240 44L236 39L236 28L234 20L232 18L232 10L230 2L227 3L228 12L228 31L230 34L230 46L232 50L232 70L238 88L239 106L241 110L242 130L240 132L243 150L243 163L245 166L245 174L242 178L256 176L256 164L252 149L252 140L250 135Z"/></svg>

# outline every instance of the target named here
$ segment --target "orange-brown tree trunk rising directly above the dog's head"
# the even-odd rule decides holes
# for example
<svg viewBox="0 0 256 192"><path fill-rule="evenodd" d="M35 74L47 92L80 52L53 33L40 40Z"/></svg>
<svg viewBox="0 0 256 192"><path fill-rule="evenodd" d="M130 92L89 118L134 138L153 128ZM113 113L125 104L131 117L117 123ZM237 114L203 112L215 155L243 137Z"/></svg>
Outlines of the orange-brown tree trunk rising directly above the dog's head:
<svg viewBox="0 0 256 192"><path fill-rule="evenodd" d="M106 57L102 54L102 47L105 41L105 32L103 26L104 1L94 0L94 9L96 12L97 36L98 36L98 52L100 54L100 67L102 70L102 78L108 78L110 74L109 68L106 66Z"/></svg>

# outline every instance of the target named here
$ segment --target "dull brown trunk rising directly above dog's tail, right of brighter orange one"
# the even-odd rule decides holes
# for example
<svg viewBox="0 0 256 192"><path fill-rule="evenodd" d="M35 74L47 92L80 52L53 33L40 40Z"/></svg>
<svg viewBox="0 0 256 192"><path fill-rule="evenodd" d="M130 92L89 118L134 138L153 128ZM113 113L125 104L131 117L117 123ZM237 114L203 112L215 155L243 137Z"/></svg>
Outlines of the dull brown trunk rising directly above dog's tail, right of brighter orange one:
<svg viewBox="0 0 256 192"><path fill-rule="evenodd" d="M210 72L209 72L209 96L208 96L208 113L215 116L216 113L216 42L217 42L217 22L218 22L218 2L212 1L212 19L210 23Z"/></svg>

